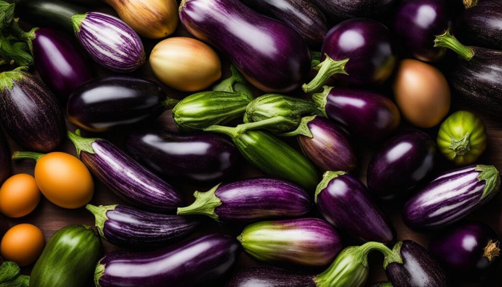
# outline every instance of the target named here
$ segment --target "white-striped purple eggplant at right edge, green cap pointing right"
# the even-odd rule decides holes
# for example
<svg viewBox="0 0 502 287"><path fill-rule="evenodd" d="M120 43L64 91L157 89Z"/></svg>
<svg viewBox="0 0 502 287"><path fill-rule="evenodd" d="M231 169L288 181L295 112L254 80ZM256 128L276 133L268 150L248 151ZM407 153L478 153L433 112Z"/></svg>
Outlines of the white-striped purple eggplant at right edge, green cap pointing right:
<svg viewBox="0 0 502 287"><path fill-rule="evenodd" d="M408 200L403 221L415 230L452 224L488 202L500 189L493 165L470 165L447 171Z"/></svg>

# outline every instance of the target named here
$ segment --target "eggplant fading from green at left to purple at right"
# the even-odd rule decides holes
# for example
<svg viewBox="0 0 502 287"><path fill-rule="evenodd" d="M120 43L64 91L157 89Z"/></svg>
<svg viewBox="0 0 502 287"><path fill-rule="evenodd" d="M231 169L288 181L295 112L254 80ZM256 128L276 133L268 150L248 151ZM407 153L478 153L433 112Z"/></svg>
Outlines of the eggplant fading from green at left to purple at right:
<svg viewBox="0 0 502 287"><path fill-rule="evenodd" d="M318 218L253 223L237 240L258 260L312 267L329 264L342 250L338 232Z"/></svg>

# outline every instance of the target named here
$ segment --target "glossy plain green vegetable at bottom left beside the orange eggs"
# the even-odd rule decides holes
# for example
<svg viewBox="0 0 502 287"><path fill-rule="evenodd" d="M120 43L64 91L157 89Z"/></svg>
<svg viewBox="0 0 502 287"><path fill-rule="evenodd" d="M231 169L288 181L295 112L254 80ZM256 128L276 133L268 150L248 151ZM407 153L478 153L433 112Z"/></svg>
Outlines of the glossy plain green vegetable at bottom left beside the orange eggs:
<svg viewBox="0 0 502 287"><path fill-rule="evenodd" d="M101 256L99 236L86 225L70 225L51 237L33 267L30 287L80 287Z"/></svg>

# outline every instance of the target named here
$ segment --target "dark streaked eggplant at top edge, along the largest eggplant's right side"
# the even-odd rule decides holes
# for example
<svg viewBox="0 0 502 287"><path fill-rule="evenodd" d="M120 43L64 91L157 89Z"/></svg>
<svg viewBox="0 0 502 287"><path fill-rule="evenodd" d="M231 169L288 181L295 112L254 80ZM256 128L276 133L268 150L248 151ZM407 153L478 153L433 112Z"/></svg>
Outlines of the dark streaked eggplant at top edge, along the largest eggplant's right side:
<svg viewBox="0 0 502 287"><path fill-rule="evenodd" d="M244 0L242 2L261 14L286 23L311 45L320 45L328 33L326 16L308 0Z"/></svg>

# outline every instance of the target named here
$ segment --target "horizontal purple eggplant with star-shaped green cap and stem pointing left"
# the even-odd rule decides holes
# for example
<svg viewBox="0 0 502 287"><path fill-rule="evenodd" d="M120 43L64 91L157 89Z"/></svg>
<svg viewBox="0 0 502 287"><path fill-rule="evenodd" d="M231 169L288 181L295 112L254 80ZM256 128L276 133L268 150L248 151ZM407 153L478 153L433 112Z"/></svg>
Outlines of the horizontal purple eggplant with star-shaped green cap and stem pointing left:
<svg viewBox="0 0 502 287"><path fill-rule="evenodd" d="M194 197L192 205L178 208L178 215L202 214L221 222L253 222L299 217L312 209L305 190L276 178L221 183L205 193L195 192Z"/></svg>

